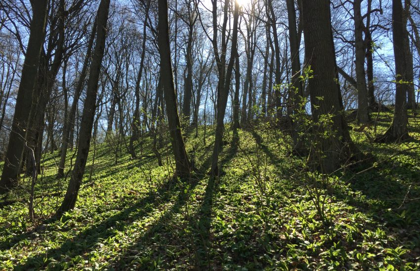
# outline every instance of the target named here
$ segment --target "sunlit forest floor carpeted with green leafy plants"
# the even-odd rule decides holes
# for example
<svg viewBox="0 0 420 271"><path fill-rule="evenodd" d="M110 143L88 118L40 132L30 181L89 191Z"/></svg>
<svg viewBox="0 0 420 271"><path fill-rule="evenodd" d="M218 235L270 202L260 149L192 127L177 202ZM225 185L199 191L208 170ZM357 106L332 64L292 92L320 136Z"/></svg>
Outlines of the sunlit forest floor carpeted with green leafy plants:
<svg viewBox="0 0 420 271"><path fill-rule="evenodd" d="M150 141L136 160L112 140L98 144L94 166L92 145L76 208L59 220L62 197L51 194L64 195L69 177L56 180L59 157L46 154L35 222L26 200L0 207L0 270L418 270L420 119L410 114L412 140L379 144L371 139L392 115L372 117L377 126L351 135L377 162L328 177L305 172L287 138L262 123L240 131L237 150L225 145L216 179L210 127L186 138L198 168L188 180L171 177L168 144L163 167ZM27 199L29 182L8 200Z"/></svg>

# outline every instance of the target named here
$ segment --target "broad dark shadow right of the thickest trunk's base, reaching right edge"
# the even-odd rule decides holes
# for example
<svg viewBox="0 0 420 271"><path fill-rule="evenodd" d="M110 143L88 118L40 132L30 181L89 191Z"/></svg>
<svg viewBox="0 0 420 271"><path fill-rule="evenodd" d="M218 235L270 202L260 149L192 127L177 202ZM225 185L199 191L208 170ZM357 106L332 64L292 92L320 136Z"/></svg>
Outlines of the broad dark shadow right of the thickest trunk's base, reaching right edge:
<svg viewBox="0 0 420 271"><path fill-rule="evenodd" d="M389 173L380 174L389 169ZM394 176L389 178L389 174ZM350 174L344 176L344 180L347 177L350 178ZM379 225L384 225L387 235L394 236L398 243L410 246L410 242L413 242L411 245L420 246L419 201L416 200L420 198L419 180L419 169L410 170L407 165L388 161L378 169L350 180L349 188L359 191L361 196L349 197L346 187L337 187L333 193L337 199L357 207L358 211L367 214ZM416 253L419 256L419 252Z"/></svg>

